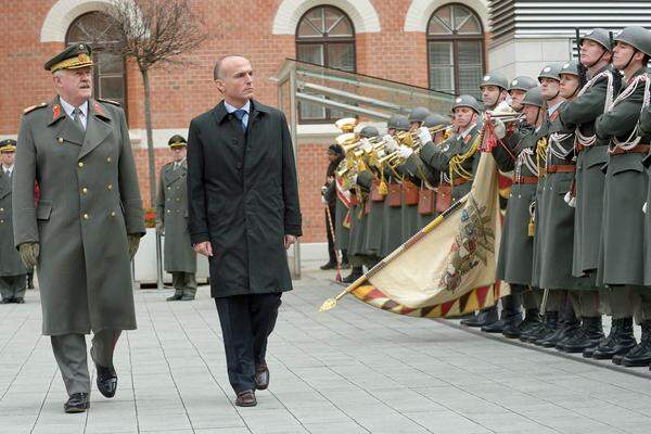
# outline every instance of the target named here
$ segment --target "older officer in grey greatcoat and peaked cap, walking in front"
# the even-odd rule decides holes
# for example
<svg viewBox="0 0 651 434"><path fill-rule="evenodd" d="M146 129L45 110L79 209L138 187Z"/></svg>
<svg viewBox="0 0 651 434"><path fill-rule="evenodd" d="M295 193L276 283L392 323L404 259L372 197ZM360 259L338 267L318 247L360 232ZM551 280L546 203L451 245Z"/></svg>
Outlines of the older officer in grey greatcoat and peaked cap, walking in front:
<svg viewBox="0 0 651 434"><path fill-rule="evenodd" d="M68 393L66 412L90 406L90 332L98 388L115 395L113 352L120 332L136 329L129 263L144 234L125 112L92 99L92 66L87 43L46 63L58 95L25 110L13 174L14 242L37 268L42 333Z"/></svg>

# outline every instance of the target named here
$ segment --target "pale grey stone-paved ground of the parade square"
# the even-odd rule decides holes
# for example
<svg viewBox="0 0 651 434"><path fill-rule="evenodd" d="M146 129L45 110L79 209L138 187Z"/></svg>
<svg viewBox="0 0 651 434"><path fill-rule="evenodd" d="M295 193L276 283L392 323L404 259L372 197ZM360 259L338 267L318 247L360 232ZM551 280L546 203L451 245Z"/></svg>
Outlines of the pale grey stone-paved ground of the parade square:
<svg viewBox="0 0 651 434"><path fill-rule="evenodd" d="M136 296L139 329L116 350L119 388L65 414L40 335L38 293L0 306L0 433L649 433L651 381L343 299L307 271L283 296L269 391L237 408L208 289L194 302ZM639 370L641 372L641 370Z"/></svg>

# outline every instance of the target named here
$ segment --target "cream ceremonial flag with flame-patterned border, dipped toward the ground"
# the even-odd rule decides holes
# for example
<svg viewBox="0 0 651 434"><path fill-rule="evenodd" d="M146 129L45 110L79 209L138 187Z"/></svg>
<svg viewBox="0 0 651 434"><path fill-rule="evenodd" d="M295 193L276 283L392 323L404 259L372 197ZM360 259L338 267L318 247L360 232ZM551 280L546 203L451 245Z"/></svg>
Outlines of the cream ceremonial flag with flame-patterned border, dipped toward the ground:
<svg viewBox="0 0 651 434"><path fill-rule="evenodd" d="M394 314L438 318L493 306L505 295L496 284L501 234L498 170L483 153L468 195L359 278L346 294Z"/></svg>

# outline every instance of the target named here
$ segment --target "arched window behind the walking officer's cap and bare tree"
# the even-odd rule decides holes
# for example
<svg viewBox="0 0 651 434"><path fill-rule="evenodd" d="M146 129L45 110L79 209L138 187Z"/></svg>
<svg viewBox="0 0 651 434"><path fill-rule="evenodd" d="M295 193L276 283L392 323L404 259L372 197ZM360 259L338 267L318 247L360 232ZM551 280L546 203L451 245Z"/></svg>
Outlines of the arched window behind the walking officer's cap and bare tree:
<svg viewBox="0 0 651 434"><path fill-rule="evenodd" d="M93 94L117 101L126 108L125 60L111 52L118 41L117 28L102 12L89 12L77 17L65 36L66 46L77 42L90 42L92 46Z"/></svg>

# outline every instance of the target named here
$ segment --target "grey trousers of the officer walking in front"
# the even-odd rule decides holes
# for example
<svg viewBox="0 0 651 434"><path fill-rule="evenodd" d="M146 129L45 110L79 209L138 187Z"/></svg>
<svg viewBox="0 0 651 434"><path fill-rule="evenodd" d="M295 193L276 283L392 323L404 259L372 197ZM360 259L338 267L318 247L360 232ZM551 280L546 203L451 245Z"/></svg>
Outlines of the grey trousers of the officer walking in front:
<svg viewBox="0 0 651 434"><path fill-rule="evenodd" d="M122 330L102 330L92 336L90 356L104 367L113 367L113 350ZM86 336L71 333L50 336L54 358L68 395L90 393L90 374L86 355Z"/></svg>

